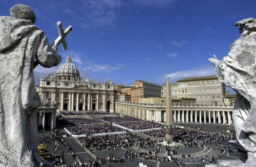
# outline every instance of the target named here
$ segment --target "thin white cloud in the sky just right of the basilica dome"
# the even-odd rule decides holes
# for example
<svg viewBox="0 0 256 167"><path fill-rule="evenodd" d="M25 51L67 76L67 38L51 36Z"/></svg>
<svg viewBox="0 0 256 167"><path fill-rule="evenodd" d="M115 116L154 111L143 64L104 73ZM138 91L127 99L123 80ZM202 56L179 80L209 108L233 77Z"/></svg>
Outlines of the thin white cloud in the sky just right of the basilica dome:
<svg viewBox="0 0 256 167"><path fill-rule="evenodd" d="M83 71L92 71L92 72L106 72L109 73L111 71L119 70L123 65L120 63L117 66L110 66L110 65L99 65L94 64L94 62L86 62L88 65L84 65L82 68Z"/></svg>

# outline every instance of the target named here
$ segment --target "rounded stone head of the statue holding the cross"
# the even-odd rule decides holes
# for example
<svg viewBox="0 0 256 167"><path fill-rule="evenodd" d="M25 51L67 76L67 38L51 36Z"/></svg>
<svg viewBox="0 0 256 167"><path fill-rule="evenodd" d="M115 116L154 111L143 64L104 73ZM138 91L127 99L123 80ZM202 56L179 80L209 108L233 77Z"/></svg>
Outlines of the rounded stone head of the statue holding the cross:
<svg viewBox="0 0 256 167"><path fill-rule="evenodd" d="M30 20L32 23L35 23L36 20L35 13L32 11L32 9L23 4L14 5L10 9L10 16Z"/></svg>

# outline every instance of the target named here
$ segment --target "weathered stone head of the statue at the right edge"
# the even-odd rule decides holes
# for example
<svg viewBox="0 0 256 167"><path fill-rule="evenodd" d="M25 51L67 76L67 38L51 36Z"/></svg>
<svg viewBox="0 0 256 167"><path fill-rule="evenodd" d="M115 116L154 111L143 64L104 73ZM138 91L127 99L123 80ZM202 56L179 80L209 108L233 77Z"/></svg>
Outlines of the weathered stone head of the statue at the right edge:
<svg viewBox="0 0 256 167"><path fill-rule="evenodd" d="M251 32L256 32L256 19L255 18L246 18L246 19L236 22L234 25L238 26L239 33L242 33L242 36L247 36Z"/></svg>

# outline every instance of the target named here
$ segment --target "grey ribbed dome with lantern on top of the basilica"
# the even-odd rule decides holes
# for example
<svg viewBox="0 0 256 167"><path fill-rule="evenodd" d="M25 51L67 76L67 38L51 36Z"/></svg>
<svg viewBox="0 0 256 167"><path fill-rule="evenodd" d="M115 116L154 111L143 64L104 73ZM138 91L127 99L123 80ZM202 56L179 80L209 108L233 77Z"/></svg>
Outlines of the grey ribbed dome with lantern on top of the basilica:
<svg viewBox="0 0 256 167"><path fill-rule="evenodd" d="M71 63L71 57L70 54L67 57L67 60L65 63L59 66L56 76L74 76L74 77L79 77L79 70L78 68Z"/></svg>

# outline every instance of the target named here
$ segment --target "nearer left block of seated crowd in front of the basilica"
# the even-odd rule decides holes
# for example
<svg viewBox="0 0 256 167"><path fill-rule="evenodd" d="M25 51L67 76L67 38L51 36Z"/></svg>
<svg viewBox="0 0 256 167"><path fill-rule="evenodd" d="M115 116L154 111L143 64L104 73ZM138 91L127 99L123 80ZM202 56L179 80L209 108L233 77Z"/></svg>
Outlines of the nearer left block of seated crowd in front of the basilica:
<svg viewBox="0 0 256 167"><path fill-rule="evenodd" d="M98 133L112 133L112 132L121 132L123 129L113 126L111 124L98 124L98 125L76 125L66 127L66 129L74 135L81 134L98 134Z"/></svg>

